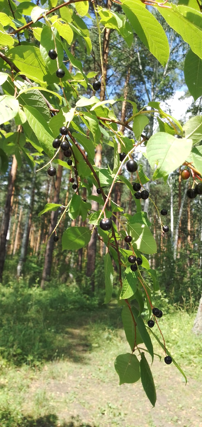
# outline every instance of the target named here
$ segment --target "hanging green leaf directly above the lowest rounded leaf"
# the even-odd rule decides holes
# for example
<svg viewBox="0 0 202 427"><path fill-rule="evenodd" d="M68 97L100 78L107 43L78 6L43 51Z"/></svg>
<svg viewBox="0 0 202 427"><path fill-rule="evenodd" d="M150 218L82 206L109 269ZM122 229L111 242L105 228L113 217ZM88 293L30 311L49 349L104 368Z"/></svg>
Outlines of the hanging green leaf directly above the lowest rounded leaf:
<svg viewBox="0 0 202 427"><path fill-rule="evenodd" d="M130 345L131 350L133 350L135 344L135 326L129 307L123 307L121 317L127 342ZM136 344L139 345L141 342L143 342L143 340L139 334L139 330L136 328Z"/></svg>

